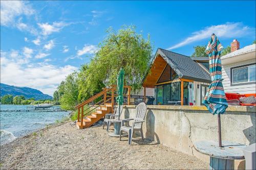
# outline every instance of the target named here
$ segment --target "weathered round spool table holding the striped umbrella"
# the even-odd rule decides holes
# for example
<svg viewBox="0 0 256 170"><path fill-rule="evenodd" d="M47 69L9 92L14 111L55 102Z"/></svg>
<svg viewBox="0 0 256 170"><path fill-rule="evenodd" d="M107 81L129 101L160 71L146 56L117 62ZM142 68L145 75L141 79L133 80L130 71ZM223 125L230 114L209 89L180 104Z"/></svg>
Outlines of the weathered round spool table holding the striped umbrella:
<svg viewBox="0 0 256 170"><path fill-rule="evenodd" d="M235 159L245 159L242 149L244 144L222 141L223 148L219 147L218 141L198 141L194 144L195 149L210 156L209 169L234 169Z"/></svg>

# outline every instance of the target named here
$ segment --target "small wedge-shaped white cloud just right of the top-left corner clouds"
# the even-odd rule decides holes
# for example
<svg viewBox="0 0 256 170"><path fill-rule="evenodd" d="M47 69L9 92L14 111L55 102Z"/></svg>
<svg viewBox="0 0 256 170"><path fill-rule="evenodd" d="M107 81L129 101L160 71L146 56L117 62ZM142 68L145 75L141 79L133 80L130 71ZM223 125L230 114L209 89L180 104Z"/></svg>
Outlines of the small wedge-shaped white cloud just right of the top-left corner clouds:
<svg viewBox="0 0 256 170"><path fill-rule="evenodd" d="M59 32L64 27L71 25L71 23L66 23L66 22L53 22L52 25L50 25L48 22L37 23L37 24L42 30L42 35L45 35L45 36L50 35L54 32Z"/></svg>

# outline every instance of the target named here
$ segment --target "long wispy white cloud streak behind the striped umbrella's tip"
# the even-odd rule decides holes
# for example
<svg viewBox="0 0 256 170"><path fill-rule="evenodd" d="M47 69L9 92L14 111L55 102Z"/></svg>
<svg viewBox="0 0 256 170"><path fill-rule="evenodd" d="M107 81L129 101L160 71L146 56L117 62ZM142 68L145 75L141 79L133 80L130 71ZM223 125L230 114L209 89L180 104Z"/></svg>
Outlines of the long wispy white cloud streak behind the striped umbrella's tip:
<svg viewBox="0 0 256 170"><path fill-rule="evenodd" d="M174 48L178 48L184 45L187 45L194 41L199 41L203 39L209 39L212 33L215 33L217 37L222 38L237 38L237 37L243 37L250 32L253 32L253 29L243 26L241 22L227 22L223 25L216 25L216 26L209 26L205 27L204 29L192 33L191 36L187 37L183 41L179 42L178 44L175 44L173 46L170 46L167 48L167 50L172 50Z"/></svg>

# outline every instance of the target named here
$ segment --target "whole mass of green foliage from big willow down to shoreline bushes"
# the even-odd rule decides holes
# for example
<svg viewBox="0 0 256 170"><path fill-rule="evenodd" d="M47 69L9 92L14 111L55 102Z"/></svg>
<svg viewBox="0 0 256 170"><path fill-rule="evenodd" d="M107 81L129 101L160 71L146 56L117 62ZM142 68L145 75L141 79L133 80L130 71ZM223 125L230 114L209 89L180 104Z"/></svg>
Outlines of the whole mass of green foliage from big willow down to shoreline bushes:
<svg viewBox="0 0 256 170"><path fill-rule="evenodd" d="M103 87L116 84L121 67L125 70L124 84L132 86L134 91L141 88L152 60L150 36L144 39L134 26L123 26L117 32L110 28L106 32L108 35L99 43L90 63L69 75L54 92L54 101L59 101L61 108L73 110Z"/></svg>

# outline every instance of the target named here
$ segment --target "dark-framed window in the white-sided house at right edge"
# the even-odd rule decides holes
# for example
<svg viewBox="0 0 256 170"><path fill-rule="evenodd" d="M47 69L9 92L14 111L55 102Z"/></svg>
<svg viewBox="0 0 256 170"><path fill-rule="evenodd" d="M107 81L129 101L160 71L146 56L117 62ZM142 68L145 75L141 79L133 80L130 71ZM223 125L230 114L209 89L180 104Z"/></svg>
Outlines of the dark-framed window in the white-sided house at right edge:
<svg viewBox="0 0 256 170"><path fill-rule="evenodd" d="M231 68L231 84L255 82L255 64Z"/></svg>

